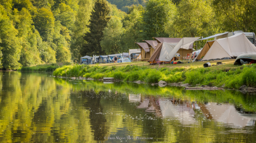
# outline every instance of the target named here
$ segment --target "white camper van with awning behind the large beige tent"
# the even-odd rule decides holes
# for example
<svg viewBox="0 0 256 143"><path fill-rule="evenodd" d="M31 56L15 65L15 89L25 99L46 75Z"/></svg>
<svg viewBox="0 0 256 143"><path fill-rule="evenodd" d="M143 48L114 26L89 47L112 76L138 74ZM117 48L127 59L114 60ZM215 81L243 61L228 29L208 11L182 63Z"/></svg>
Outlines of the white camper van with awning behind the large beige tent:
<svg viewBox="0 0 256 143"><path fill-rule="evenodd" d="M249 39L249 41L252 42L252 44L254 46L256 46L256 39L255 39L255 33L254 32L244 32L244 31L225 32L225 33L223 33L223 35L216 36L214 38L214 40L220 39L220 38L227 38L227 37L233 36L233 35L238 34L238 33L244 33L244 35Z"/></svg>

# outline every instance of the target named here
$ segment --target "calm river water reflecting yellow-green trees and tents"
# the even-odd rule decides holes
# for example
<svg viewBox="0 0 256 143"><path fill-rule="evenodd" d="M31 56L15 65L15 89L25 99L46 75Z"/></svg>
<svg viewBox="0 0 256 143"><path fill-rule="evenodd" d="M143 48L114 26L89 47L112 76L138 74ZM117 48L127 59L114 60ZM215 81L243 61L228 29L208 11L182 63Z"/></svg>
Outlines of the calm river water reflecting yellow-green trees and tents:
<svg viewBox="0 0 256 143"><path fill-rule="evenodd" d="M256 142L255 95L0 72L0 142Z"/></svg>

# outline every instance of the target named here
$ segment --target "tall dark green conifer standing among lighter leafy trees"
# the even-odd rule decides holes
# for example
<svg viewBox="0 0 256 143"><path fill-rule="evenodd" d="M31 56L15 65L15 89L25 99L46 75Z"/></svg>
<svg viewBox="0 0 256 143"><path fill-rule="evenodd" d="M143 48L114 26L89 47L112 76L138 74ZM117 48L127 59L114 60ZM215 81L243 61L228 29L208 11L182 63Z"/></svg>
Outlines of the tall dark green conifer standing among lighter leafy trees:
<svg viewBox="0 0 256 143"><path fill-rule="evenodd" d="M110 20L108 17L110 9L105 0L97 0L94 4L91 19L89 20L89 32L85 34L84 39L86 44L81 50L81 55L103 55L105 52L100 46L100 41L103 39L103 30Z"/></svg>

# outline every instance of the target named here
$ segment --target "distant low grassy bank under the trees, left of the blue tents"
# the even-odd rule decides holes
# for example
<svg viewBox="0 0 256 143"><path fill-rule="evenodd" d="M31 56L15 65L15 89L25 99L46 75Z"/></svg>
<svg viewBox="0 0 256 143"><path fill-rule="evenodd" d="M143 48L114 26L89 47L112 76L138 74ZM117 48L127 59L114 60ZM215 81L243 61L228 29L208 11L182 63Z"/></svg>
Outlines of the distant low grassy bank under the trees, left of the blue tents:
<svg viewBox="0 0 256 143"><path fill-rule="evenodd" d="M71 65L69 62L65 63L55 63L55 64L44 64L44 65L36 65L30 67L21 67L18 71L46 71L46 72L53 72L59 67Z"/></svg>

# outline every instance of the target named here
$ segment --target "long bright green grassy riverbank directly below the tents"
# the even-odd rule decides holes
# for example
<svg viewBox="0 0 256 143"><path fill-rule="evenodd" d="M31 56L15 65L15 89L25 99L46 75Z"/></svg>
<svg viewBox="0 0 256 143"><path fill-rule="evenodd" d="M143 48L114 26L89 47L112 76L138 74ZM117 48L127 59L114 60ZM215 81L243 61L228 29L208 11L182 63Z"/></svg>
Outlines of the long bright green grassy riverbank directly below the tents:
<svg viewBox="0 0 256 143"><path fill-rule="evenodd" d="M101 65L67 65L56 69L54 76L85 77L102 79L114 77L116 80L143 81L158 83L189 83L193 86L211 85L226 88L239 88L241 85L256 86L256 66L233 65L234 60L223 60L224 65L203 68L203 63L196 62L179 65L149 65L146 62L101 64ZM216 63L216 61L211 62Z"/></svg>

